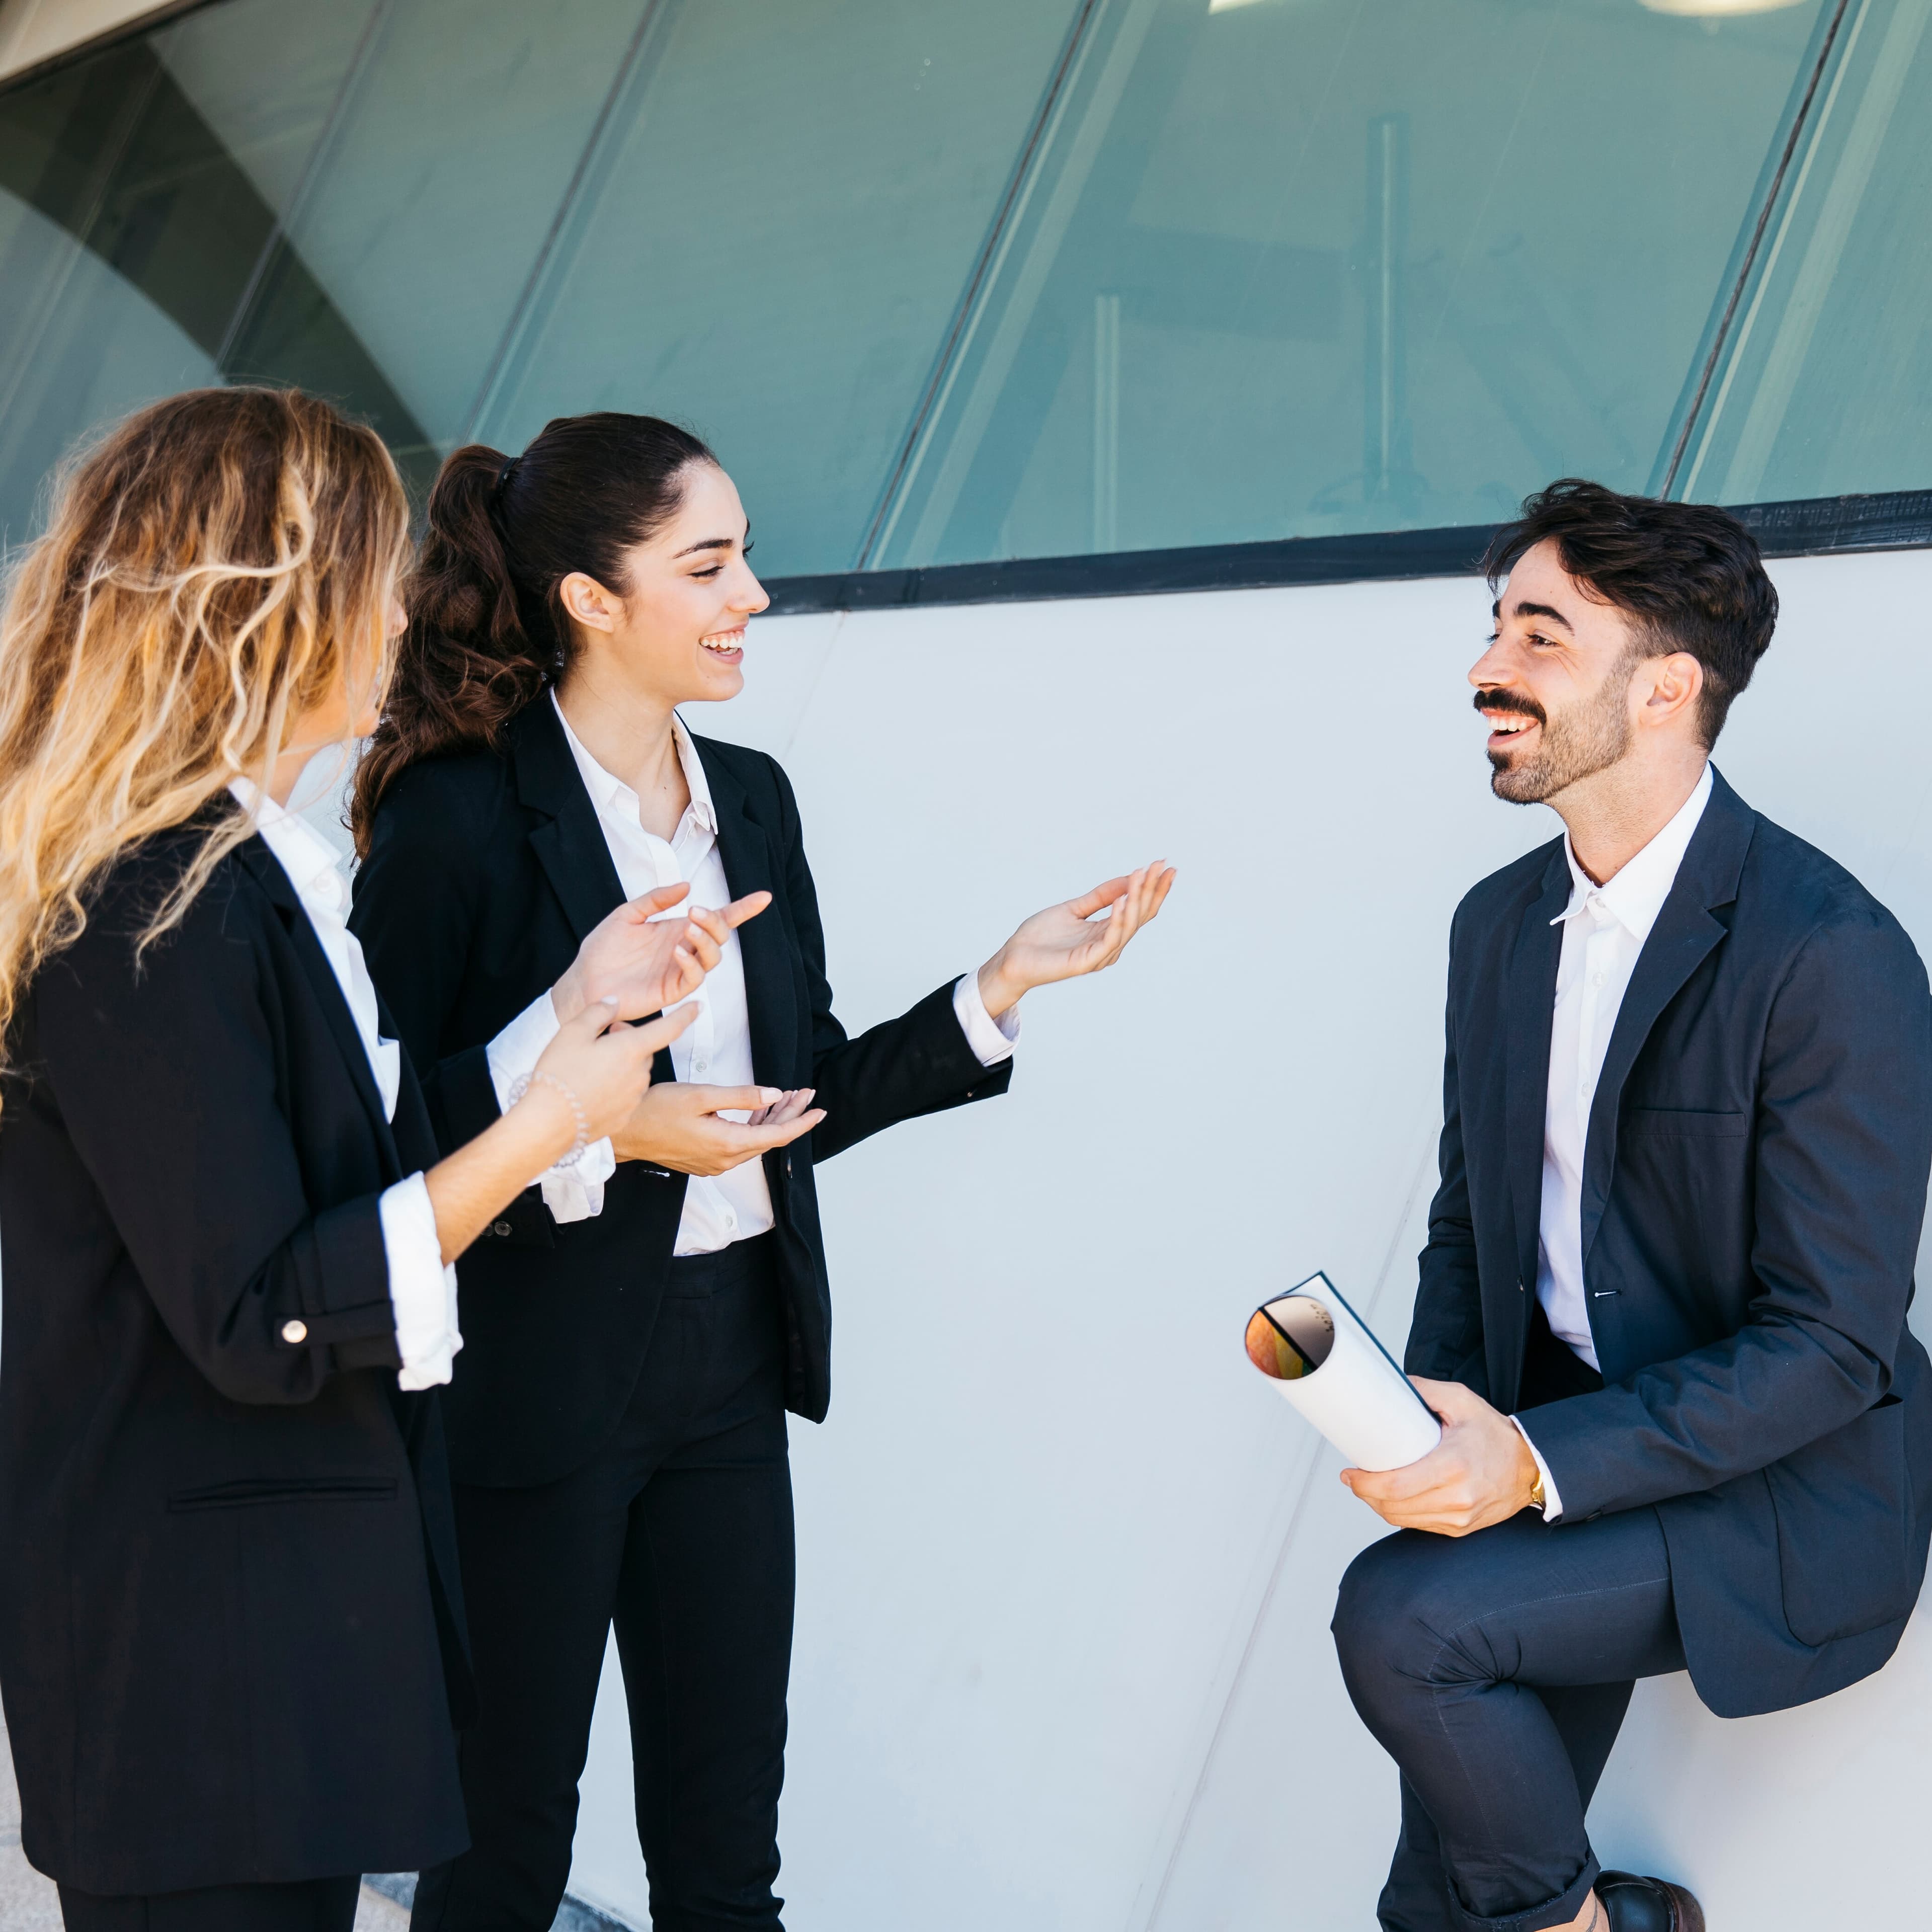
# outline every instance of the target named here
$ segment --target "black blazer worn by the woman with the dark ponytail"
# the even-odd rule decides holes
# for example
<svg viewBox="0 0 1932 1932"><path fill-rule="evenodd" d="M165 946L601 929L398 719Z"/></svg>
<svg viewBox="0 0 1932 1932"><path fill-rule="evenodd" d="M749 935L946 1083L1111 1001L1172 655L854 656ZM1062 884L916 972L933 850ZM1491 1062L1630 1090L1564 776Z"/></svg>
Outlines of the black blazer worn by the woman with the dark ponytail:
<svg viewBox="0 0 1932 1932"><path fill-rule="evenodd" d="M759 1084L817 1088L825 1122L765 1155L786 1310L786 1405L831 1397L831 1289L813 1163L914 1115L1003 1094L952 983L848 1039L825 983L825 935L798 804L777 759L697 738L734 898L769 891L740 929ZM597 810L549 696L502 753L412 765L375 817L352 925L402 1028L442 1146L497 1119L485 1049L622 904ZM670 1055L657 1078L668 1080ZM529 1188L460 1264L464 1354L448 1395L460 1482L553 1482L609 1439L638 1381L684 1209L684 1175L622 1161L589 1221L556 1225Z"/></svg>

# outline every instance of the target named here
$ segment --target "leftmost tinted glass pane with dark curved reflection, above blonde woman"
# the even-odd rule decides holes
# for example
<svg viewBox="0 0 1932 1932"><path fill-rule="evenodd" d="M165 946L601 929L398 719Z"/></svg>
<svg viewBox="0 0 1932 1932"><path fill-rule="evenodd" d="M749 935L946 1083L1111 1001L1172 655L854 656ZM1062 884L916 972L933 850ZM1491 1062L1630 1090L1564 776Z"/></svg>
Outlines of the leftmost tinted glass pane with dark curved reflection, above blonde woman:
<svg viewBox="0 0 1932 1932"><path fill-rule="evenodd" d="M234 365L230 325L367 17L236 0L0 97L10 541L75 437ZM348 346L332 348L340 371ZM357 402L377 402L373 371L355 373ZM406 433L394 412L383 425Z"/></svg>

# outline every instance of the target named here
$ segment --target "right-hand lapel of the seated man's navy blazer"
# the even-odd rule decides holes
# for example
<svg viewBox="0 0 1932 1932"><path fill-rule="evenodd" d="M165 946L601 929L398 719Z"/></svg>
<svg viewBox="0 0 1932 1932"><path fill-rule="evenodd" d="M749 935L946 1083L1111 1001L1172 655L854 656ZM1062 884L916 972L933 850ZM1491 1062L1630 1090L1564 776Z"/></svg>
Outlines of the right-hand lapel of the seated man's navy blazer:
<svg viewBox="0 0 1932 1932"><path fill-rule="evenodd" d="M1644 1051L1650 1030L1663 1009L1677 997L1685 981L1698 970L1710 951L1729 931L1723 920L1712 918L1712 908L1737 898L1737 881L1745 869L1745 854L1756 827L1756 813L1723 777L1712 769L1710 802L1690 835L1677 881L1669 898L1650 927L1617 1024L1604 1051L1604 1072L1590 1101L1590 1134L1582 1155L1582 1258L1588 1267L1590 1244L1604 1223L1609 1186L1617 1171L1617 1113L1623 1084L1631 1078L1636 1055Z"/></svg>

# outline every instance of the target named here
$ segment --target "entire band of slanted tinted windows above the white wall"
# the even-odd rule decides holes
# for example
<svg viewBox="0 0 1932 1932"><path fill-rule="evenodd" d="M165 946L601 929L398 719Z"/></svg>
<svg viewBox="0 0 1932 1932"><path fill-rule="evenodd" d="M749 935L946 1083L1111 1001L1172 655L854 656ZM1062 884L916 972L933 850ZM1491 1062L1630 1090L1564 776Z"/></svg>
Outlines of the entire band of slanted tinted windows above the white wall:
<svg viewBox="0 0 1932 1932"><path fill-rule="evenodd" d="M1922 489L1928 99L1932 0L216 0L0 89L0 539L222 379L680 417L775 576Z"/></svg>

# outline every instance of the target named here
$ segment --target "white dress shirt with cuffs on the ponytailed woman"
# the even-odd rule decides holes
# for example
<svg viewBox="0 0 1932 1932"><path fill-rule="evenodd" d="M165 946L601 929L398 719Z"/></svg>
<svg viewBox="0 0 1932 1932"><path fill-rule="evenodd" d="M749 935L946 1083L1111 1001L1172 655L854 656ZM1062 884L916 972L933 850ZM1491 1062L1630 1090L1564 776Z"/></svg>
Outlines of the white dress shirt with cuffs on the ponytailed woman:
<svg viewBox="0 0 1932 1932"><path fill-rule="evenodd" d="M556 705L554 692L551 703ZM665 885L688 883L690 895L670 912L659 914L663 920L684 920L692 906L728 904L730 885L719 852L711 784L684 721L672 715L670 736L692 802L667 842L643 829L638 794L591 757L570 728L562 705L556 705L556 717L564 726L570 755L578 761L583 788L597 808L597 825L611 848L611 864L616 867L624 896L638 898ZM757 1076L752 1072L744 952L736 931L726 937L719 964L692 999L697 1003L697 1018L670 1043L670 1066L678 1080L705 1086L757 1086ZM980 999L976 974L966 974L952 987L952 1010L983 1066L995 1066L1012 1055L1012 1043L1020 1037L1020 1012L1012 1009L995 1022ZM537 1055L554 1037L556 1009L549 993L539 993L489 1045L489 1070L498 1105L508 1097L516 1078L537 1065ZM726 1113L723 1119L744 1121L746 1115ZM582 1221L603 1213L603 1188L612 1173L616 1159L611 1142L599 1140L576 1169L551 1169L543 1177L543 1202L558 1221ZM692 1175L684 1188L684 1217L678 1221L672 1252L715 1254L734 1240L763 1235L771 1225L771 1188L765 1182L763 1161L744 1161L713 1177Z"/></svg>

